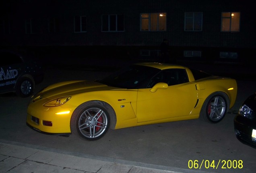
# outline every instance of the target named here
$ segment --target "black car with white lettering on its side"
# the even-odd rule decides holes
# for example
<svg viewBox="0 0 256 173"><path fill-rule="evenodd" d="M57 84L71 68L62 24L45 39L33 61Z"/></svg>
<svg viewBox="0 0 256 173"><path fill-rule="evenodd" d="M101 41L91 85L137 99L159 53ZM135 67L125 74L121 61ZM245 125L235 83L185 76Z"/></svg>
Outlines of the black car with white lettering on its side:
<svg viewBox="0 0 256 173"><path fill-rule="evenodd" d="M28 54L0 50L0 58L0 94L14 92L28 97L43 80L43 67Z"/></svg>

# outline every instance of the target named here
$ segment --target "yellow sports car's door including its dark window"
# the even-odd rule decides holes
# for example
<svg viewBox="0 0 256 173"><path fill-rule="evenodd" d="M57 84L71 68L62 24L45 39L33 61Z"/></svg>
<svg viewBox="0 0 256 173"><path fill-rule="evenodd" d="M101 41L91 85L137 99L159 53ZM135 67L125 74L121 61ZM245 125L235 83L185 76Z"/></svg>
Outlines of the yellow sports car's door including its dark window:
<svg viewBox="0 0 256 173"><path fill-rule="evenodd" d="M168 88L155 92L151 88L138 90L138 123L190 114L197 102L197 91L195 84L188 81L185 69L163 70L153 81L165 82Z"/></svg>

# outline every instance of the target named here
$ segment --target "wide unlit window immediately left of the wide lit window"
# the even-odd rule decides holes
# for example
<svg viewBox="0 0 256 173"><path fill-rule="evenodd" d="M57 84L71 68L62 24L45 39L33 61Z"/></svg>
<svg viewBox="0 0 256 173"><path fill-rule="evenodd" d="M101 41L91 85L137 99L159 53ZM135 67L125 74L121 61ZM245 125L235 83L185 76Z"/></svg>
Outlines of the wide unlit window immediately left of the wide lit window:
<svg viewBox="0 0 256 173"><path fill-rule="evenodd" d="M124 31L124 15L123 14L102 15L101 31L104 31L104 32Z"/></svg>

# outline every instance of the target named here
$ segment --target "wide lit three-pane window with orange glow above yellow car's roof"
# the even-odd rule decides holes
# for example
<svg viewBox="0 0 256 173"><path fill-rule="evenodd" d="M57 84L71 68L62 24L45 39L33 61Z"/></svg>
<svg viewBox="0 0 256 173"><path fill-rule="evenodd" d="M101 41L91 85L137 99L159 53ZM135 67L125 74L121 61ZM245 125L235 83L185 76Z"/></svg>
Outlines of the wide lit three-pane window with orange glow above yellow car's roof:
<svg viewBox="0 0 256 173"><path fill-rule="evenodd" d="M166 13L140 15L141 31L166 31Z"/></svg>

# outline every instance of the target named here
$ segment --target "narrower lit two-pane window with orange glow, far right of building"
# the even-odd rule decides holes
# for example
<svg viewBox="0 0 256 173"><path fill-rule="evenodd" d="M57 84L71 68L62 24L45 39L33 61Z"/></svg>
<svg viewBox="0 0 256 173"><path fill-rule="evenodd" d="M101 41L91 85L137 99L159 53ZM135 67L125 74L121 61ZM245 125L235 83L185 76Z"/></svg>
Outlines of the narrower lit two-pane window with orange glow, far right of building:
<svg viewBox="0 0 256 173"><path fill-rule="evenodd" d="M239 32L240 12L223 12L221 15L222 32Z"/></svg>

